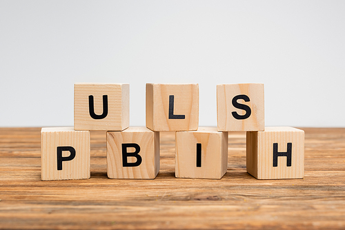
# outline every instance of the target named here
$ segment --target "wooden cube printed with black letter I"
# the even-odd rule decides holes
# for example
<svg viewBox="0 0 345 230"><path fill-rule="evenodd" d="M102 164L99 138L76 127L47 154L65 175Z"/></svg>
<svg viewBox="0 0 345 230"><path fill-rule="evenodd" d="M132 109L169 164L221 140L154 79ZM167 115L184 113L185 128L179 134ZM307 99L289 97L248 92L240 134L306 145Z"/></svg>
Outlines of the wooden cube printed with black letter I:
<svg viewBox="0 0 345 230"><path fill-rule="evenodd" d="M228 168L228 132L217 127L176 132L175 176L220 179Z"/></svg>

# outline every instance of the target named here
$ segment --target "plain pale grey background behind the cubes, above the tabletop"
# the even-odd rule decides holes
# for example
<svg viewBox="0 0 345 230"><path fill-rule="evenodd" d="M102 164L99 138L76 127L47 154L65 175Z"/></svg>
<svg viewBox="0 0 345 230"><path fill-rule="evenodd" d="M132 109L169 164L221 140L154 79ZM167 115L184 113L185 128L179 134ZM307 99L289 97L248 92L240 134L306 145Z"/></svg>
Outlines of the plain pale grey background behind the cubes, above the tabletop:
<svg viewBox="0 0 345 230"><path fill-rule="evenodd" d="M264 83L266 125L345 127L345 1L0 1L0 126L73 125L74 83Z"/></svg>

